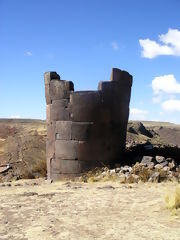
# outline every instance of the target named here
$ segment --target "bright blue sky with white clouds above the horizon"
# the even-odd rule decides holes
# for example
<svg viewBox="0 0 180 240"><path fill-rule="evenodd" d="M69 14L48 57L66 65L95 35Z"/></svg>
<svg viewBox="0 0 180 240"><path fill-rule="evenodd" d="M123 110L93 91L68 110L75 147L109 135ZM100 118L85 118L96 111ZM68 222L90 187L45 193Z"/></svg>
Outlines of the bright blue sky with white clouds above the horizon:
<svg viewBox="0 0 180 240"><path fill-rule="evenodd" d="M0 0L0 117L45 119L43 74L133 75L131 119L180 123L180 0Z"/></svg>

